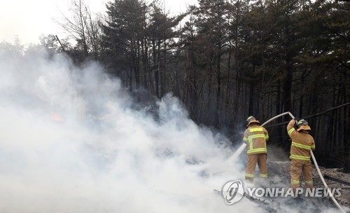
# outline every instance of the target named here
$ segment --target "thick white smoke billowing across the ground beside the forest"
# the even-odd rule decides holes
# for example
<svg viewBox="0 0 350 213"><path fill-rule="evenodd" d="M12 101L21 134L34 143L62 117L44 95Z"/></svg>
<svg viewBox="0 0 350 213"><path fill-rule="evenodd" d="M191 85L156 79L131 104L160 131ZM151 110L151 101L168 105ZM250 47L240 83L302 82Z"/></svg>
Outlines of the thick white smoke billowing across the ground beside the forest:
<svg viewBox="0 0 350 213"><path fill-rule="evenodd" d="M229 140L176 97L149 113L99 64L45 51L3 53L0 75L0 212L246 212L213 192L243 179Z"/></svg>

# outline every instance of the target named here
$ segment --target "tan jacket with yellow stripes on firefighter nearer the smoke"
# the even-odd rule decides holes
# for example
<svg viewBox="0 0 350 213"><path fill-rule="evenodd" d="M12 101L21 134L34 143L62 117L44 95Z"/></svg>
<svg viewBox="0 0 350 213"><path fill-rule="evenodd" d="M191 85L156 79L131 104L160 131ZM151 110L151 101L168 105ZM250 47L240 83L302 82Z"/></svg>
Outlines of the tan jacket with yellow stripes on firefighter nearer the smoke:
<svg viewBox="0 0 350 213"><path fill-rule="evenodd" d="M248 155L267 153L266 142L269 139L267 130L258 124L251 124L249 128L244 131L243 141L247 144Z"/></svg>

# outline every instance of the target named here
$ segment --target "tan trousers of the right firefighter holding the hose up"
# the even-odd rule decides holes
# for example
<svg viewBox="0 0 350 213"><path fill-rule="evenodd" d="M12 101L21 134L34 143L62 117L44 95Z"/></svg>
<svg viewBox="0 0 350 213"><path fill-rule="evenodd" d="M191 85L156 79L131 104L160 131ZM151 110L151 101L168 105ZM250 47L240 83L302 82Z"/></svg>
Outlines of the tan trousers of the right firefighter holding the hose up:
<svg viewBox="0 0 350 213"><path fill-rule="evenodd" d="M305 187L312 188L312 165L309 160L290 161L290 187L295 189L300 187L300 173L304 177Z"/></svg>

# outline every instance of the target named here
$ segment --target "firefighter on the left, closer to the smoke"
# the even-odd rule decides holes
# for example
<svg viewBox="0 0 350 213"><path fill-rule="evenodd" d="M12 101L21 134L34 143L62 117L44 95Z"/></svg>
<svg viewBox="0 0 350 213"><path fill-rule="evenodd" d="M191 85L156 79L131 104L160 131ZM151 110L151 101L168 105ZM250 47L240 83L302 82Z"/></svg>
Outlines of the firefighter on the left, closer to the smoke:
<svg viewBox="0 0 350 213"><path fill-rule="evenodd" d="M244 131L243 142L247 144L248 162L246 163L246 180L253 181L255 166L258 163L260 177L267 178L267 148L266 142L269 134L260 122L253 116L246 119L247 129Z"/></svg>

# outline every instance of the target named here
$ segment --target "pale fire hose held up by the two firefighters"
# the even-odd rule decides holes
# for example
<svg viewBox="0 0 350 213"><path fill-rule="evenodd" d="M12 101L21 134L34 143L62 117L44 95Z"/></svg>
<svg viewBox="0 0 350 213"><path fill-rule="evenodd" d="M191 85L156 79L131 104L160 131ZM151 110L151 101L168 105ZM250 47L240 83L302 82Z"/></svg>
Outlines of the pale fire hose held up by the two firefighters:
<svg viewBox="0 0 350 213"><path fill-rule="evenodd" d="M291 114L289 111L283 113L283 114L279 114L278 116L274 116L273 118L269 119L268 121L266 121L265 123L262 123L261 126L264 126L266 125L267 123L269 123L270 121L273 121L274 119L276 118L279 118L281 116L285 116L285 115L289 115L291 118L295 119L295 117L293 116L293 114ZM232 155L232 157L229 159L229 160L233 160L235 158L237 158L237 156L239 156L239 154L241 153L241 151L244 150L244 148L246 147L246 144L241 144L241 146L239 146L239 148L237 149L237 151ZM328 187L328 185L325 183L325 179L323 178L323 175L321 173L321 170L320 168L318 167L318 164L317 164L317 161L316 161L316 158L314 156L314 153L312 152L312 150L310 150L310 153L311 153L311 158L312 160L314 160L314 164L315 164L315 167L316 167L316 170L317 170L317 173L319 175L319 177L321 178L321 181L323 183L323 185L325 186L325 188L328 190L328 193L330 194L330 198L332 198L332 201L335 203L335 205L339 208L340 212L343 212L343 213L346 213L344 209L342 209L342 207L339 205L339 203L337 202L337 200L335 200L332 192L330 191L330 188Z"/></svg>

